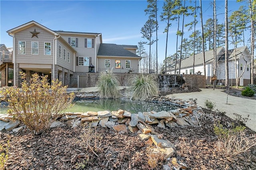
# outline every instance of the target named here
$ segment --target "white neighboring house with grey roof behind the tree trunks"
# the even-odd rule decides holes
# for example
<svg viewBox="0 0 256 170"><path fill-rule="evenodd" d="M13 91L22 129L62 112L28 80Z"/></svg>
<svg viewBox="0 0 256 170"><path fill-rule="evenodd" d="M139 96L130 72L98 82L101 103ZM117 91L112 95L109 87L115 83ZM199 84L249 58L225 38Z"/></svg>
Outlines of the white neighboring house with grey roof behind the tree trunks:
<svg viewBox="0 0 256 170"><path fill-rule="evenodd" d="M230 83L236 84L236 77L240 77L239 85L246 86L250 84L250 62L251 55L247 46L238 47L236 49L230 49L228 57L228 74ZM216 50L217 56L217 68L216 68L216 83L224 83L225 81L225 49L219 47ZM236 60L235 60L236 56ZM205 51L205 66L206 66L206 83L212 84L211 77L213 74L213 62L214 62L214 51ZM180 73L179 63L176 67L176 74L193 74L193 63L194 63L194 74L204 75L203 65L203 54L198 53L181 61ZM170 68L168 73L175 74L175 69Z"/></svg>

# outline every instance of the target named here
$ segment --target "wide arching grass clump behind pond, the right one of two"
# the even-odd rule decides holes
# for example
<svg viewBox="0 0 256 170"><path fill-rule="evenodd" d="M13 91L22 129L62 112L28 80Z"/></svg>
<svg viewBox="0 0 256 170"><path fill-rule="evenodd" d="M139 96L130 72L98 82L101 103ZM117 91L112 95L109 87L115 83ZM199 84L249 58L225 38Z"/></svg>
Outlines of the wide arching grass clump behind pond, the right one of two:
<svg viewBox="0 0 256 170"><path fill-rule="evenodd" d="M155 74L136 75L130 80L131 99L145 100L152 95L158 94L158 81Z"/></svg>

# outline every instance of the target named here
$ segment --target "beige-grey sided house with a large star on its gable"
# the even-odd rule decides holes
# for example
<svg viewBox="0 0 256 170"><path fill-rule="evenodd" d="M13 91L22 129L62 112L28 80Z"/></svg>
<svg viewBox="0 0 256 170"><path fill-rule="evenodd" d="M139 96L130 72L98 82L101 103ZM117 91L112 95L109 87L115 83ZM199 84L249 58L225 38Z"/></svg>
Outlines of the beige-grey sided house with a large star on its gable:
<svg viewBox="0 0 256 170"><path fill-rule="evenodd" d="M79 77L88 73L89 66L94 66L95 72L112 67L118 73L139 70L137 45L103 44L100 33L53 31L35 21L7 33L13 37L13 56L1 61L1 72L6 72L6 66L13 67L14 85L20 85L19 71L26 72L28 79L40 73L59 79L63 85L78 87Z"/></svg>

